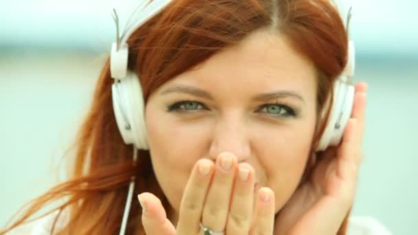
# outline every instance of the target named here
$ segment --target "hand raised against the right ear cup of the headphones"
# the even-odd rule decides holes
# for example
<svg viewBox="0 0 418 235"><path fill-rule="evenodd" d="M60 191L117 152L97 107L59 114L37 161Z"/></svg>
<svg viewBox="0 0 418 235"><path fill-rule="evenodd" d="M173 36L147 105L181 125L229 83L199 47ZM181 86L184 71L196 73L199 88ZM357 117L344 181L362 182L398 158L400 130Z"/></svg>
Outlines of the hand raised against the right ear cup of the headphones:
<svg viewBox="0 0 418 235"><path fill-rule="evenodd" d="M318 155L309 178L277 214L274 234L337 234L351 210L362 161L366 90L364 82L355 85L353 112L340 146Z"/></svg>

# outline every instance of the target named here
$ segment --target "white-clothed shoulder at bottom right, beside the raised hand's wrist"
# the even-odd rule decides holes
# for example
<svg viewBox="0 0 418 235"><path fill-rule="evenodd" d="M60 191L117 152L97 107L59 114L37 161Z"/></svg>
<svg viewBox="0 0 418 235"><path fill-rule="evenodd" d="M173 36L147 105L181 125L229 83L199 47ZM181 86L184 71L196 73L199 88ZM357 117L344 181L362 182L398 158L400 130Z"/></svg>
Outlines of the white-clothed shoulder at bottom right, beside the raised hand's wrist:
<svg viewBox="0 0 418 235"><path fill-rule="evenodd" d="M392 235L392 233L371 216L351 216L347 235Z"/></svg>

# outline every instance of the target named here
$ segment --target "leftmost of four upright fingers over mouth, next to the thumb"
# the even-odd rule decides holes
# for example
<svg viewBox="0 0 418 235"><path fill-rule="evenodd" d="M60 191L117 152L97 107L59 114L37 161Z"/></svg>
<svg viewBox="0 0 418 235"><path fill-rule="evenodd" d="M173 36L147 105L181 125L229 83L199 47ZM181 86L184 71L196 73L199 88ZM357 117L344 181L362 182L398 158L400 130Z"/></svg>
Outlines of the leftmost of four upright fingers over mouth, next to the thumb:
<svg viewBox="0 0 418 235"><path fill-rule="evenodd" d="M200 159L192 169L181 198L179 210L178 234L197 234L203 212L203 204L213 175L213 163L209 159Z"/></svg>

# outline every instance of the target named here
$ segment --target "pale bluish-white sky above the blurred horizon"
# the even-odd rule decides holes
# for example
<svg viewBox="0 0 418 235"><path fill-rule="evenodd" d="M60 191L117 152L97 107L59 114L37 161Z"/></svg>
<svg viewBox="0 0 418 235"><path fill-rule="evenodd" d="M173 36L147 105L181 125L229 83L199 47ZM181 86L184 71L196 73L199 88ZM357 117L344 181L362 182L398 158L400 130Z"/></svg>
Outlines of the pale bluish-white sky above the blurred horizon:
<svg viewBox="0 0 418 235"><path fill-rule="evenodd" d="M351 0L351 37L360 54L418 55L418 1ZM100 52L115 38L111 9L121 21L132 0L1 1L0 47L69 47Z"/></svg>

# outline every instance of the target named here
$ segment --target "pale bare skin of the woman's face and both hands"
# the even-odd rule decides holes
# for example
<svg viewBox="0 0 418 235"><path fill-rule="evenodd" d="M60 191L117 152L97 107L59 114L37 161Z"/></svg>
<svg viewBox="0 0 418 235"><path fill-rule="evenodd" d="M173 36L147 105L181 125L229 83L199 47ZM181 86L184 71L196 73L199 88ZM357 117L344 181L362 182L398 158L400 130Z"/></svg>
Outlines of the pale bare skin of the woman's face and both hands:
<svg viewBox="0 0 418 235"><path fill-rule="evenodd" d="M146 234L203 234L200 221L225 234L336 234L355 194L366 84L355 86L342 143L296 190L317 123L316 82L285 37L261 31L153 92L151 160L175 215L140 194Z"/></svg>

